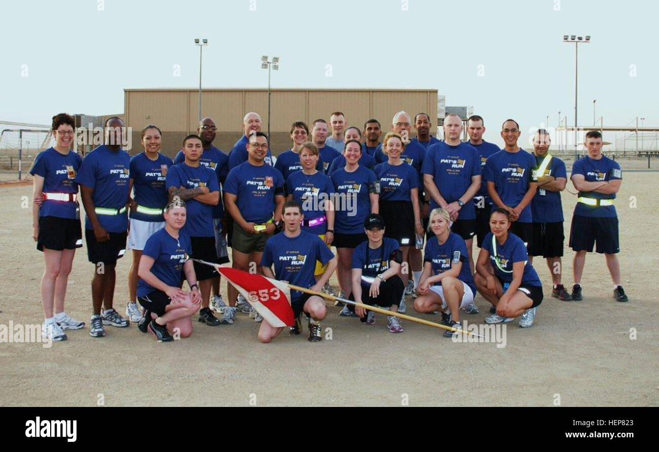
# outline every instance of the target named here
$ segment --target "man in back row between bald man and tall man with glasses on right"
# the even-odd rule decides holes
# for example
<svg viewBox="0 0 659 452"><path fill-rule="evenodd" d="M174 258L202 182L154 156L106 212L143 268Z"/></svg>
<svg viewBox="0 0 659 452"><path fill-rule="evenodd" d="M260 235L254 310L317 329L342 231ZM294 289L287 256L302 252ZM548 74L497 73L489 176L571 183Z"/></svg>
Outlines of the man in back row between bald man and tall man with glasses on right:
<svg viewBox="0 0 659 452"><path fill-rule="evenodd" d="M490 212L492 211L492 198L488 193L488 181L485 180L485 163L490 157L501 151L494 143L489 143L483 139L485 133L485 123L482 116L473 114L467 120L467 134L469 143L480 155L480 188L474 195L473 203L476 208L476 245L480 248L483 244L483 238L490 232Z"/></svg>

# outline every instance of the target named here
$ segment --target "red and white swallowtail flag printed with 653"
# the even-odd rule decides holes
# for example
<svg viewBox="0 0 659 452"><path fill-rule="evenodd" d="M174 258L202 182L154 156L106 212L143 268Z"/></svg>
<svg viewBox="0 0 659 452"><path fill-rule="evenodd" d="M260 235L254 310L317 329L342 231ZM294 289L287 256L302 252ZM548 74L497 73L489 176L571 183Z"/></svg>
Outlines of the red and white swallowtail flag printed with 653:
<svg viewBox="0 0 659 452"><path fill-rule="evenodd" d="M215 266L227 281L275 328L293 326L295 317L291 308L291 289L283 282L252 274L237 268Z"/></svg>

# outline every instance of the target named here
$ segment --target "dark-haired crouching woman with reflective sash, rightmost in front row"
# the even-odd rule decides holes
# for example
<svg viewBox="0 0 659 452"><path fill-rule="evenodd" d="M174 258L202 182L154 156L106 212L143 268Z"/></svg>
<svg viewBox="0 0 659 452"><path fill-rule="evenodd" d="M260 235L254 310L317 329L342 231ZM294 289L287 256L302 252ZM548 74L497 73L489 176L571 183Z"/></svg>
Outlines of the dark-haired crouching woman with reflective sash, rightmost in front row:
<svg viewBox="0 0 659 452"><path fill-rule="evenodd" d="M519 326L533 326L536 307L542 303L542 283L529 262L527 247L521 238L509 232L510 217L504 209L490 214L490 230L483 239L476 262L474 282L480 295L496 313L486 323L511 322L521 316ZM488 270L488 260L494 274Z"/></svg>

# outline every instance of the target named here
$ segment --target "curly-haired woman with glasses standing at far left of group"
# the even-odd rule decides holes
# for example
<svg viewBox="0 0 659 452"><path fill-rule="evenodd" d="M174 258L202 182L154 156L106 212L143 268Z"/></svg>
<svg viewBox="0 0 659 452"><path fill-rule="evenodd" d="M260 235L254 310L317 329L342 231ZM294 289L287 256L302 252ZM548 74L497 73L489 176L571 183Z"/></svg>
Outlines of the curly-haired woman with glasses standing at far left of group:
<svg viewBox="0 0 659 452"><path fill-rule="evenodd" d="M34 176L32 238L43 252L45 270L41 282L44 322L43 339L63 341L64 330L79 330L78 322L64 311L64 299L76 248L82 247L80 204L76 172L80 155L71 151L75 139L75 120L66 113L53 116L55 146L34 159L30 174ZM53 315L53 305L55 314Z"/></svg>

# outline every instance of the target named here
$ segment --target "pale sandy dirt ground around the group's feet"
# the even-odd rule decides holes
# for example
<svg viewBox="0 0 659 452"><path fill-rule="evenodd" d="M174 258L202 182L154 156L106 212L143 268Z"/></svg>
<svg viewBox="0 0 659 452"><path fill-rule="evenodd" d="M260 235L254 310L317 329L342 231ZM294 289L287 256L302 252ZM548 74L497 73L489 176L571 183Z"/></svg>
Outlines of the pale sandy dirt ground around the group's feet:
<svg viewBox="0 0 659 452"><path fill-rule="evenodd" d="M548 296L544 262L536 268L545 298L534 328L507 325L507 346L453 343L441 331L403 322L405 332L390 334L378 315L374 326L338 316L329 307L323 328L332 339L320 343L282 334L258 343L258 324L238 314L233 325L194 323L191 338L156 343L129 328L107 327L107 336L84 330L43 348L41 343L0 343L0 405L544 405L560 395L563 406L646 406L659 404L656 325L659 293L659 207L648 188L659 173L627 173L616 203L620 218L621 267L629 303L612 299L604 258L588 255L584 301L565 303ZM573 190L569 184L569 188ZM42 255L32 240L31 186L3 186L0 272L0 324L43 322L39 294ZM630 197L637 207L630 207ZM566 245L575 197L563 193ZM571 287L571 259L565 249L563 282ZM115 307L123 314L128 299L127 255L117 265ZM76 254L69 278L67 312L89 322L90 280L94 267L86 250ZM335 281L333 282L335 284ZM223 291L226 293L225 282ZM465 315L481 323L481 313ZM411 299L408 301L409 314ZM427 315L428 320L438 316ZM630 328L637 339L630 339ZM102 396L101 396L102 395Z"/></svg>

